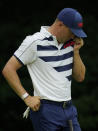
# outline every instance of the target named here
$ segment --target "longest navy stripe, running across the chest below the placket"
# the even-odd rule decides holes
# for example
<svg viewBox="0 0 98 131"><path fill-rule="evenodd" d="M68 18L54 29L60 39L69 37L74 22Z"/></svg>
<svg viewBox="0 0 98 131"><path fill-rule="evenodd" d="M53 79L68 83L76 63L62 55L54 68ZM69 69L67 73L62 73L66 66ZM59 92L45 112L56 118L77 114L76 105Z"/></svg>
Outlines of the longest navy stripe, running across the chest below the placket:
<svg viewBox="0 0 98 131"><path fill-rule="evenodd" d="M64 55L60 55L60 56L40 56L39 58L41 58L45 62L51 62L51 61L65 60L65 59L68 59L70 57L73 57L73 51L66 53Z"/></svg>

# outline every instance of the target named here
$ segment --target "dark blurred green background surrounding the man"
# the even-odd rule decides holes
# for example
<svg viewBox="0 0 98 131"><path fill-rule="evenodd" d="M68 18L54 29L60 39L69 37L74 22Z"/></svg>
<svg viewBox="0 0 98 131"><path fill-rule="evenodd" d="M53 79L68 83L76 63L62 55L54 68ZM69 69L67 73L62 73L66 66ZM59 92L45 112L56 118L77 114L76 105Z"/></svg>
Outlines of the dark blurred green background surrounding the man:
<svg viewBox="0 0 98 131"><path fill-rule="evenodd" d="M84 17L84 30L88 38L80 50L86 66L82 83L72 82L73 103L78 109L82 131L98 130L98 13L97 1L39 0L0 1L0 131L33 130L29 119L22 118L26 109L23 101L11 90L1 71L27 35L40 30L42 25L51 25L57 13L65 7L77 9ZM25 89L33 91L26 67L19 70Z"/></svg>

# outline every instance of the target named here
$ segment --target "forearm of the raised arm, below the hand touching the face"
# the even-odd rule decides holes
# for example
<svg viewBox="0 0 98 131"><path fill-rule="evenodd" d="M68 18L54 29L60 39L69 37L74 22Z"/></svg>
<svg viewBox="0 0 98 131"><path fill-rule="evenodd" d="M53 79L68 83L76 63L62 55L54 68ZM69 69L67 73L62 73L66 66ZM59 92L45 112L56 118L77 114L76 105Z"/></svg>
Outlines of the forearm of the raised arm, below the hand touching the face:
<svg viewBox="0 0 98 131"><path fill-rule="evenodd" d="M81 82L85 78L85 65L83 64L81 57L79 55L79 50L74 51L73 60L73 77L75 80Z"/></svg>

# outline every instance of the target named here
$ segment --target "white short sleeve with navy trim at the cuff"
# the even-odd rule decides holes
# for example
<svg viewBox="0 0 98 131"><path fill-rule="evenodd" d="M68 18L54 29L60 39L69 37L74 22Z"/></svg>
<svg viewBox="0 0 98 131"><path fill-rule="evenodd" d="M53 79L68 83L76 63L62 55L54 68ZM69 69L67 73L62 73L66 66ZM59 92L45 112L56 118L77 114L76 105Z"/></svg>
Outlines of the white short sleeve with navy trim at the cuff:
<svg viewBox="0 0 98 131"><path fill-rule="evenodd" d="M23 64L28 65L37 59L35 40L27 36L20 47L15 51L14 56Z"/></svg>

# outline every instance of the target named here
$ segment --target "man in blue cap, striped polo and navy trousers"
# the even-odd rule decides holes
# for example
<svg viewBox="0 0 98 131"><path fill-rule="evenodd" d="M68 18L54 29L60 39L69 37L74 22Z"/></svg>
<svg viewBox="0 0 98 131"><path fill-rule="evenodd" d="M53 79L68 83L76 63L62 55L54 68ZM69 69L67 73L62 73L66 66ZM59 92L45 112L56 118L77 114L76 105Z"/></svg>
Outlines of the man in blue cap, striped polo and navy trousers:
<svg viewBox="0 0 98 131"><path fill-rule="evenodd" d="M79 49L87 37L79 12L64 8L50 27L26 37L3 69L3 75L17 95L31 109L35 131L81 131L71 100L72 77L82 82L85 66ZM23 88L17 70L26 65L34 96ZM70 128L70 124L72 124Z"/></svg>

